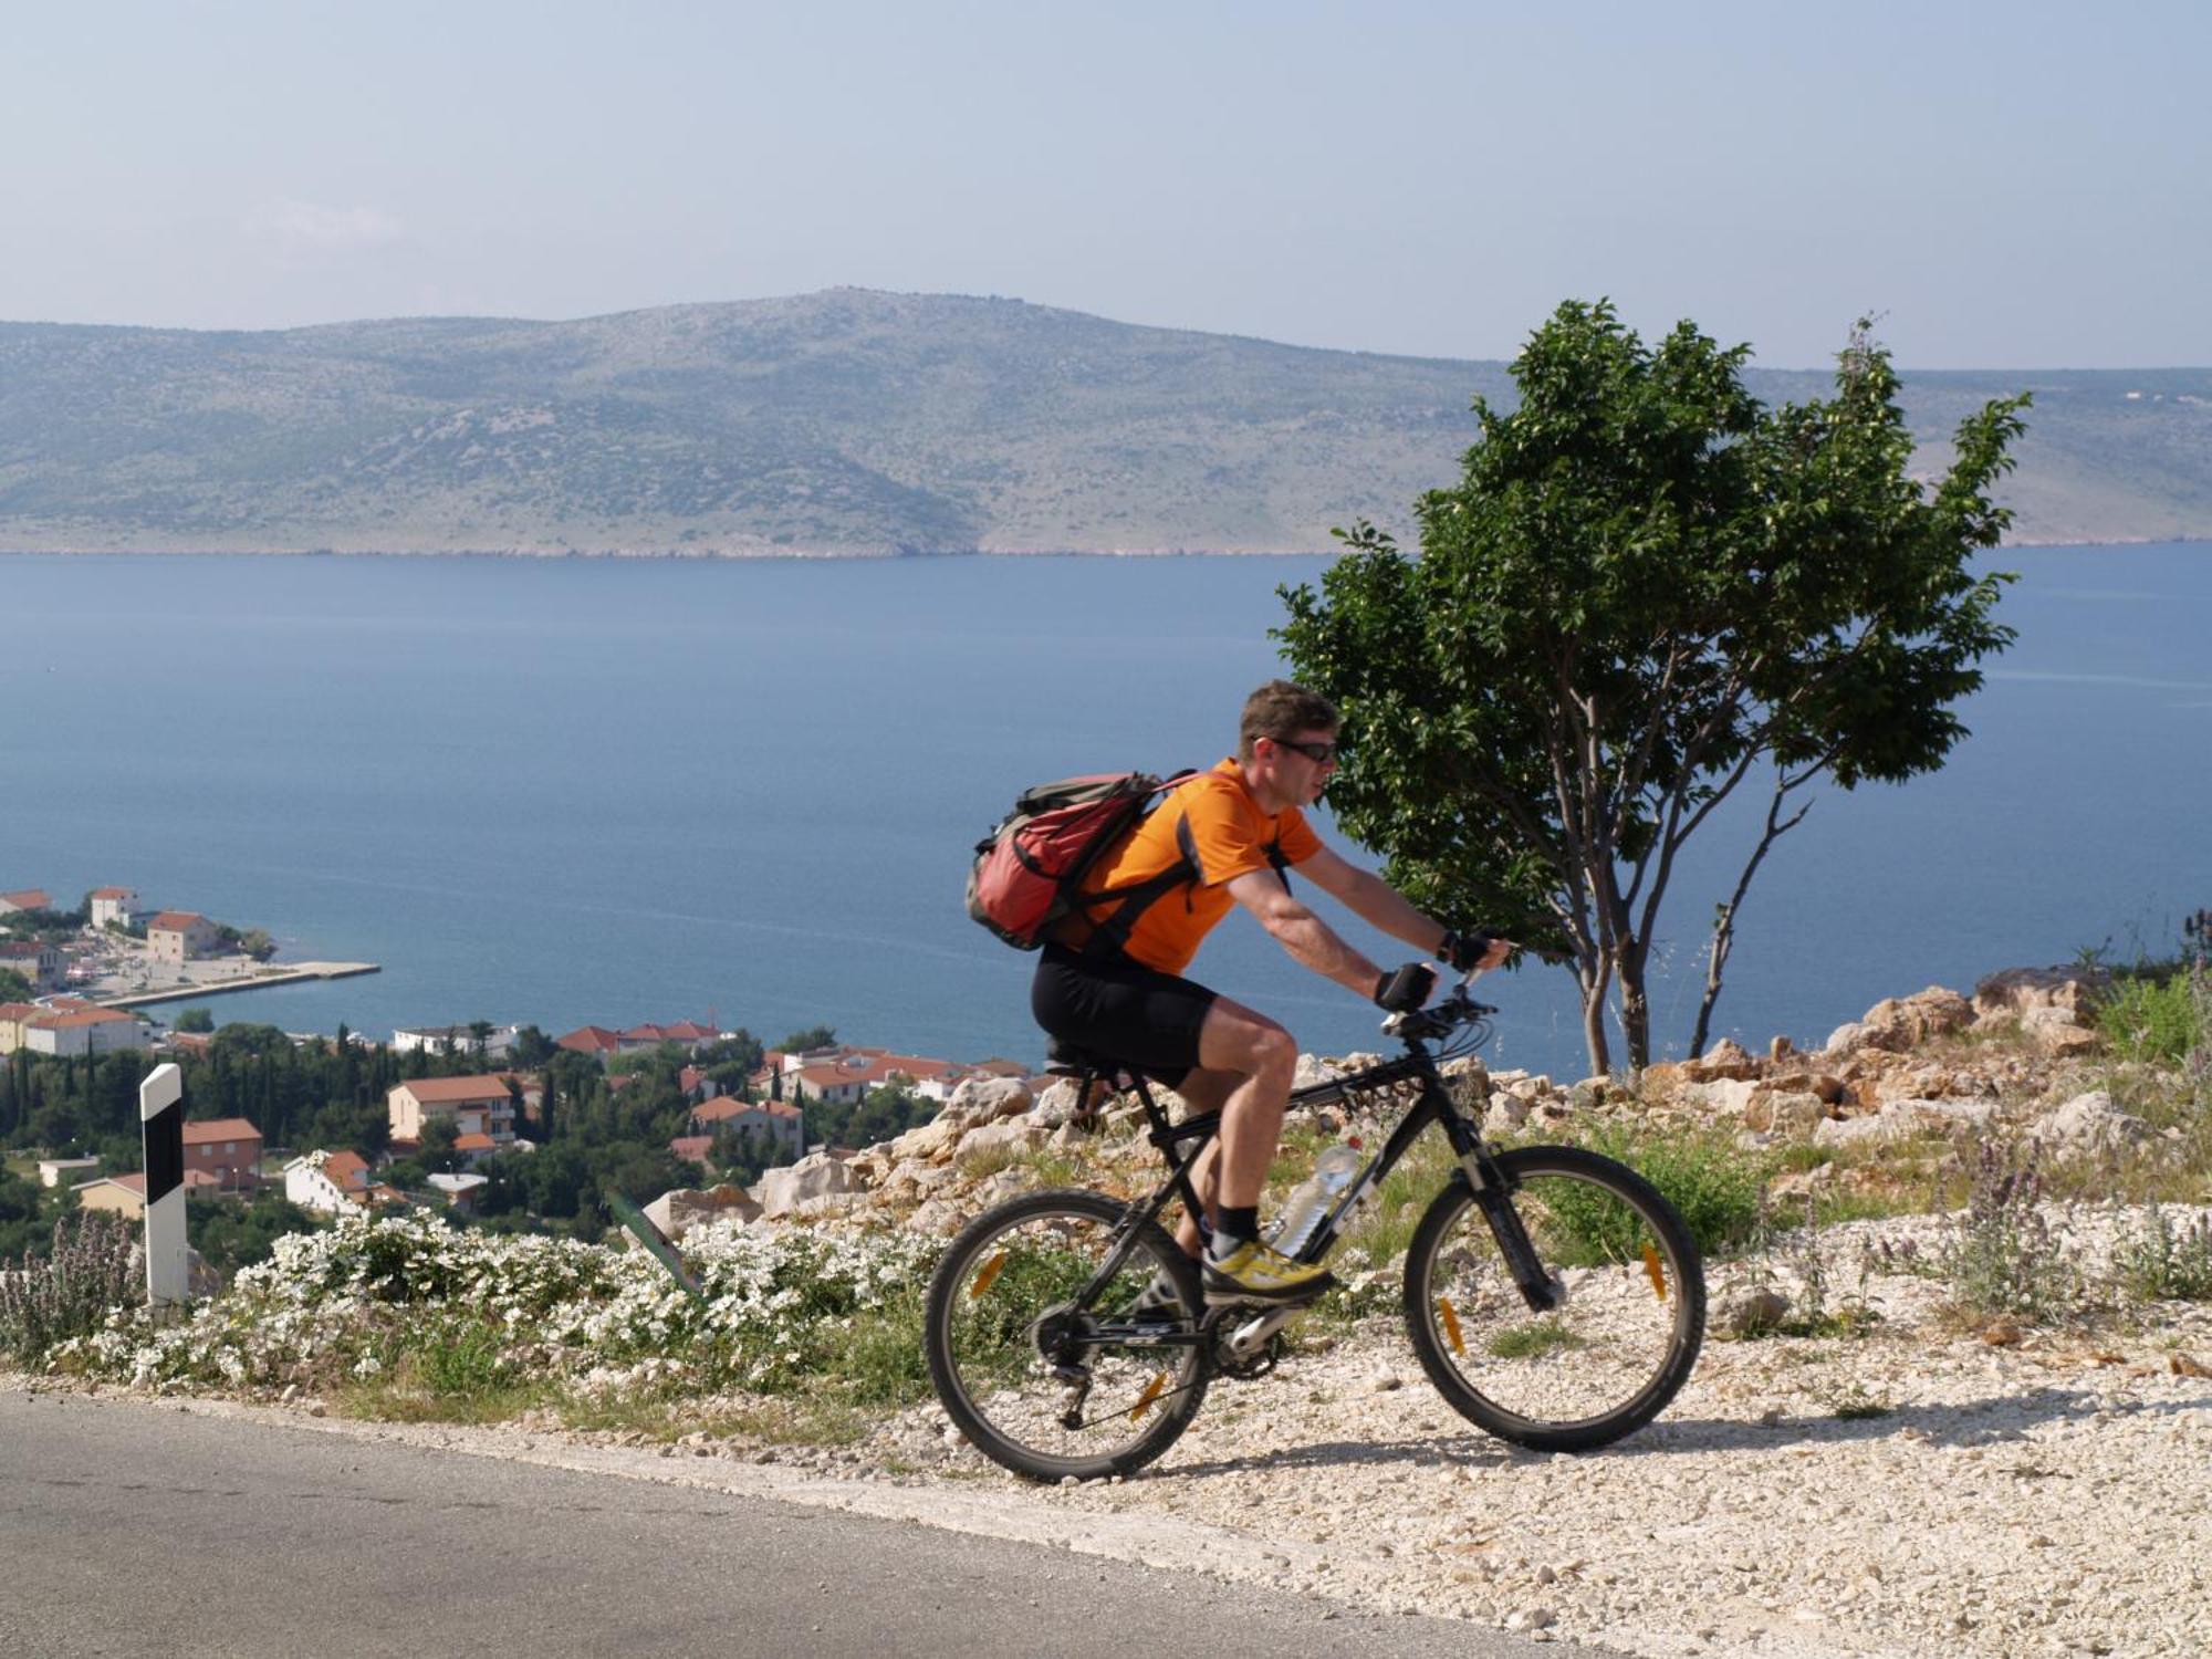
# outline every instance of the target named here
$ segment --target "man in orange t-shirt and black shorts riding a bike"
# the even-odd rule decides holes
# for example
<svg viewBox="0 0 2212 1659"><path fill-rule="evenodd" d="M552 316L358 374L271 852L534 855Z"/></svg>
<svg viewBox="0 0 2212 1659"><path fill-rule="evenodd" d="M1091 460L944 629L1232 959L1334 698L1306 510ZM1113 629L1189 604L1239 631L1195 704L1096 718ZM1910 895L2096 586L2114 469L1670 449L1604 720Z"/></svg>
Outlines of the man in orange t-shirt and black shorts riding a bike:
<svg viewBox="0 0 2212 1659"><path fill-rule="evenodd" d="M1212 1230L1201 1270L1210 1305L1303 1303L1334 1279L1259 1237L1298 1044L1267 1015L1181 978L1206 933L1243 905L1292 960L1380 998L1389 975L1292 894L1285 872L1298 869L1365 922L1460 973L1498 967L1513 949L1444 927L1321 843L1301 807L1321 801L1336 774L1336 706L1305 686L1272 679L1252 692L1237 754L1177 783L1097 860L1031 989L1031 1011L1053 1037L1141 1068L1192 1113L1221 1110L1221 1137L1192 1172ZM1197 1256L1199 1217L1183 1217L1177 1239Z"/></svg>

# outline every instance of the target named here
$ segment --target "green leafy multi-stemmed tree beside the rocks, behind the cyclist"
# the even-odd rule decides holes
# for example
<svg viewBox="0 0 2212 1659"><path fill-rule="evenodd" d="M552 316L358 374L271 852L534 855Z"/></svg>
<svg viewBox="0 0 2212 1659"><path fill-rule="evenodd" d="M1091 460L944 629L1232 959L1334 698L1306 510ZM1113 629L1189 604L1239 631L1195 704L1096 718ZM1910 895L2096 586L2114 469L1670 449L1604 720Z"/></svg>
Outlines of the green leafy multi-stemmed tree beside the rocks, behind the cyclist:
<svg viewBox="0 0 2212 1659"><path fill-rule="evenodd" d="M1646 973L1683 843L1759 776L1765 814L1714 909L1692 1053L1734 925L1816 779L1942 765L1955 703L2011 630L1975 575L2008 511L2026 396L1991 403L1922 487L1889 354L1863 321L1834 396L1770 409L1750 347L1681 323L1646 347L1562 305L1513 363L1520 405L1418 504L1420 557L1369 524L1285 591L1285 655L1345 714L1338 823L1447 916L1564 956L1584 1040L1650 1062Z"/></svg>

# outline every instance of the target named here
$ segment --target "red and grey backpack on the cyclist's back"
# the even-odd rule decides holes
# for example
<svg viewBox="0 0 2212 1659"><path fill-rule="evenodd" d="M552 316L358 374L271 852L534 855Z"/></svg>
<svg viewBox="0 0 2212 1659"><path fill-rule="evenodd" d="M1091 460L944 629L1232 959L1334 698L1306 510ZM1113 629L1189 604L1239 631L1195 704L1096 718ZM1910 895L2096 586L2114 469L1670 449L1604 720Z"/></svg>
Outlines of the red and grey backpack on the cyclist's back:
<svg viewBox="0 0 2212 1659"><path fill-rule="evenodd" d="M1188 776L1194 774L1157 779L1150 772L1099 772L1022 790L1013 812L975 843L969 916L1015 949L1033 951L1077 907L1124 900L1093 940L1102 949L1119 949L1146 905L1197 872L1179 865L1133 887L1091 896L1079 896L1077 889L1106 849Z"/></svg>

